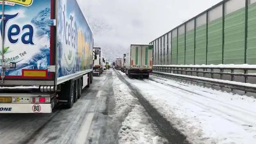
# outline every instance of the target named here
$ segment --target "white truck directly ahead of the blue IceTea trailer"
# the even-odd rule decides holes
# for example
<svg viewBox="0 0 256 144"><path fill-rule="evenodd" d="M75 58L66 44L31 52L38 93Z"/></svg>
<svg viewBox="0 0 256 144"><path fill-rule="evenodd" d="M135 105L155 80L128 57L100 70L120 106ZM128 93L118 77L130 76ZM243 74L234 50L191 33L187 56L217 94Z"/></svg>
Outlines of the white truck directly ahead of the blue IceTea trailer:
<svg viewBox="0 0 256 144"><path fill-rule="evenodd" d="M100 47L93 47L93 52L97 56L94 60L93 74L100 76L103 72L103 54Z"/></svg>

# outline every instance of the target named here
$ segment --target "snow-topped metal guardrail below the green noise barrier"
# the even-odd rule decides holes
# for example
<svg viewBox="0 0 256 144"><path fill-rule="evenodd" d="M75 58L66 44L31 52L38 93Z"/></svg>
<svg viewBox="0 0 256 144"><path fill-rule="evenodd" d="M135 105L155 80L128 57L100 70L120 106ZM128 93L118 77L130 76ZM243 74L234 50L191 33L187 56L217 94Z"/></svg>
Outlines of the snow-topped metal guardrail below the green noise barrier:
<svg viewBox="0 0 256 144"><path fill-rule="evenodd" d="M256 65L154 65L153 73L256 93Z"/></svg>

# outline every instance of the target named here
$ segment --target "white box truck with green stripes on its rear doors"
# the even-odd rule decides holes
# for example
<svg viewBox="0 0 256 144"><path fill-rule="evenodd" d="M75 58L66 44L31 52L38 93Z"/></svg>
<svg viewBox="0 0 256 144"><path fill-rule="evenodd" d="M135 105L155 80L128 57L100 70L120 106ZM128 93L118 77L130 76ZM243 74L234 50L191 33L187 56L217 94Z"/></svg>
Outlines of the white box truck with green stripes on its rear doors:
<svg viewBox="0 0 256 144"><path fill-rule="evenodd" d="M148 78L152 74L152 44L131 44L127 50L126 58L125 74L128 77L143 76Z"/></svg>

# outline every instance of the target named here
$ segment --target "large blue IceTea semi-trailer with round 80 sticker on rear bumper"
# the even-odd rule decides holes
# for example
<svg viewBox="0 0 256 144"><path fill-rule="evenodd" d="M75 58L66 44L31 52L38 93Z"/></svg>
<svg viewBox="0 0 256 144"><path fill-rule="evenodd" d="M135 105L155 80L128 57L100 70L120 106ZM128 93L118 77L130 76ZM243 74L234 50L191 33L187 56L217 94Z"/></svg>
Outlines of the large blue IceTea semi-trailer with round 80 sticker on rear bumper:
<svg viewBox="0 0 256 144"><path fill-rule="evenodd" d="M71 108L90 87L97 59L92 31L76 0L2 2L0 113Z"/></svg>

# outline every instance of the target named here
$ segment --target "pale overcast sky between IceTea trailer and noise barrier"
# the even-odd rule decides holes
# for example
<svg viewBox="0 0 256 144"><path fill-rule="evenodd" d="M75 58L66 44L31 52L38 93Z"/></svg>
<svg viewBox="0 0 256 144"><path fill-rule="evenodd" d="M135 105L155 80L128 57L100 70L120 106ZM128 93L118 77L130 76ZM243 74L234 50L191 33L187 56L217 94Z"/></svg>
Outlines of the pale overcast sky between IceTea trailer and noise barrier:
<svg viewBox="0 0 256 144"><path fill-rule="evenodd" d="M93 29L95 46L105 45L106 52L121 49L120 55L129 44L148 44L220 1L77 0Z"/></svg>

